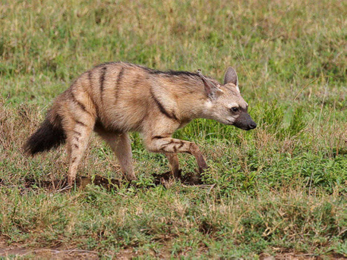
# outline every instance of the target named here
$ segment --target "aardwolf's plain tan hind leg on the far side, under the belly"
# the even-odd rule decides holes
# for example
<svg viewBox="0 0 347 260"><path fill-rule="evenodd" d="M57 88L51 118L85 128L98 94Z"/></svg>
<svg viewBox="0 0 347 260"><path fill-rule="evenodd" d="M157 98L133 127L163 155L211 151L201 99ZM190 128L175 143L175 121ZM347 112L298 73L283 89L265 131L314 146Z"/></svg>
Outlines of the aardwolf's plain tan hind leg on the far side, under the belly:
<svg viewBox="0 0 347 260"><path fill-rule="evenodd" d="M111 132L101 131L100 129L98 129L97 132L108 142L112 150L115 152L125 178L129 182L137 180L132 164L132 152L129 134L115 134Z"/></svg>

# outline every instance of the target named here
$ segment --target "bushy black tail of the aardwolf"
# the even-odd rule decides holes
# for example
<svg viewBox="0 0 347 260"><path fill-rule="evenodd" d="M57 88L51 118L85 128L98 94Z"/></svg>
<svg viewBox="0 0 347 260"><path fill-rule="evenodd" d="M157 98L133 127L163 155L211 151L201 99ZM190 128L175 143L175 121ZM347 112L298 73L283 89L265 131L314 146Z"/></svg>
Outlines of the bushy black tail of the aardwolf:
<svg viewBox="0 0 347 260"><path fill-rule="evenodd" d="M28 138L24 150L26 153L34 155L58 147L65 142L65 139L66 136L61 126L60 116L57 114L52 116L51 113L48 113L40 128Z"/></svg>

